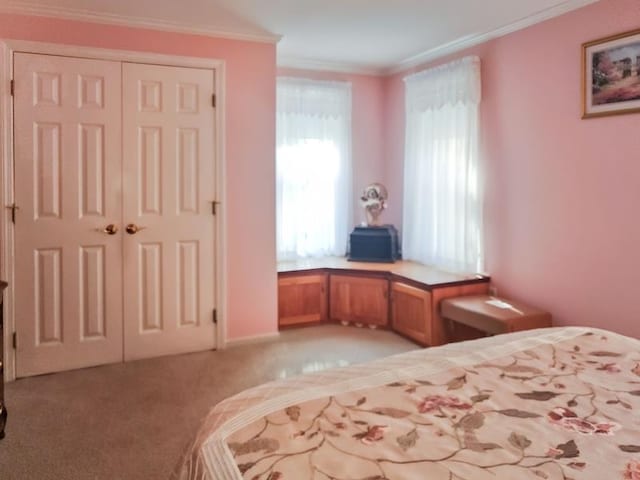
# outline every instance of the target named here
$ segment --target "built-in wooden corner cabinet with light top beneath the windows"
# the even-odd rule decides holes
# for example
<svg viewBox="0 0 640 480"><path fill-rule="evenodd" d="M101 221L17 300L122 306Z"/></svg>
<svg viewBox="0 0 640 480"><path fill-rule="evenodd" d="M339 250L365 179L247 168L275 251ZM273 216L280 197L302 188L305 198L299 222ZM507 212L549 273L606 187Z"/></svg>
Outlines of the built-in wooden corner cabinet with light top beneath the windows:
<svg viewBox="0 0 640 480"><path fill-rule="evenodd" d="M421 345L442 345L451 329L440 316L444 298L487 293L489 278L464 276L413 262L376 264L330 259L279 265L278 324L324 321L391 328Z"/></svg>

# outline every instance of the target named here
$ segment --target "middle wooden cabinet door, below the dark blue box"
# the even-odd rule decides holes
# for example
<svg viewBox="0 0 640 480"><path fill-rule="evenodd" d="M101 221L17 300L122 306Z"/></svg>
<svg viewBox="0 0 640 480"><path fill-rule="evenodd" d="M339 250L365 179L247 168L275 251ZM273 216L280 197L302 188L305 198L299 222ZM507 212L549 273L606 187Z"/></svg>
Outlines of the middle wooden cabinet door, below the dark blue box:
<svg viewBox="0 0 640 480"><path fill-rule="evenodd" d="M387 325L388 291L384 278L331 275L331 319Z"/></svg>

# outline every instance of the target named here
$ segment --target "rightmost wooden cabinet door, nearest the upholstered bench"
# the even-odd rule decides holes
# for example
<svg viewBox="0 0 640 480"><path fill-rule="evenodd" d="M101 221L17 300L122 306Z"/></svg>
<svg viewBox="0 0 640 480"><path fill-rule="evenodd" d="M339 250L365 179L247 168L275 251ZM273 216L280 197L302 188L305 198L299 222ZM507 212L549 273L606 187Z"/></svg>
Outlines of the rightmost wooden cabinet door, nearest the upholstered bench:
<svg viewBox="0 0 640 480"><path fill-rule="evenodd" d="M431 292L405 283L391 283L393 329L427 345L431 338Z"/></svg>

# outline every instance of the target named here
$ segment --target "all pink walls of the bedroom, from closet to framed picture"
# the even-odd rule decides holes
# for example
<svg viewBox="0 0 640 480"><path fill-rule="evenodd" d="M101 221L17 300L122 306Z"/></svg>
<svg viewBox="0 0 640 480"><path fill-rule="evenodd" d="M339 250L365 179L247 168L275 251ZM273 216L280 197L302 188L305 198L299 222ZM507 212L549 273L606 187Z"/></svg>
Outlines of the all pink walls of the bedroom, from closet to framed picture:
<svg viewBox="0 0 640 480"><path fill-rule="evenodd" d="M638 18L637 0L601 1L433 64L468 54L483 62L487 270L500 293L549 309L558 324L640 337L632 210L640 204L640 115L580 119L580 45L638 28ZM276 331L274 182L264 181L274 178L274 46L14 15L0 15L0 32L226 60L228 336ZM382 180L391 196L384 220L398 226L407 73L312 74L353 82L354 189ZM271 200L256 212L246 192ZM358 220L357 204L354 213Z"/></svg>

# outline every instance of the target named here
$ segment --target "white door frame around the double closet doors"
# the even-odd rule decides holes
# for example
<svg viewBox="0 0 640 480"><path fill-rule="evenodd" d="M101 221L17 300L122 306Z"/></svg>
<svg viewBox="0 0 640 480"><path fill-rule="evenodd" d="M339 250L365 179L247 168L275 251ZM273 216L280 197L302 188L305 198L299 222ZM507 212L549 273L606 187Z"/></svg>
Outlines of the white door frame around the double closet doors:
<svg viewBox="0 0 640 480"><path fill-rule="evenodd" d="M226 232L226 192L225 192L225 62L224 60L182 57L157 53L135 52L128 50L112 50L102 48L63 45L54 43L30 42L22 40L0 40L2 50L2 66L0 67L0 278L9 282L4 294L4 377L6 381L16 378L16 351L13 349L13 332L15 325L15 301L13 286L15 283L15 250L14 226L11 222L11 211L5 208L13 203L14 171L13 171L13 98L11 96L11 79L13 79L14 53L37 53L63 57L89 58L96 60L113 60L120 62L147 63L175 67L213 69L216 92L216 108L214 110L215 141L215 175L216 197L220 202L216 214L215 231L215 305L218 324L216 327L217 348L226 345L226 283L227 263L225 252ZM19 214L18 214L19 215Z"/></svg>

